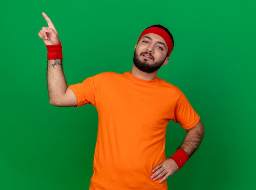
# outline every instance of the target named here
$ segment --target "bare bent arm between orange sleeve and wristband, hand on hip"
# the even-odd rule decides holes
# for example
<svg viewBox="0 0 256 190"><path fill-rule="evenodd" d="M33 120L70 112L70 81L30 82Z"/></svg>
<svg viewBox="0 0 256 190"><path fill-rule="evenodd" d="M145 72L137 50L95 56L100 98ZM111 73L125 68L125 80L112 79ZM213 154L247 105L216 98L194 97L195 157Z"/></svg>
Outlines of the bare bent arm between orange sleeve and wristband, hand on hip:
<svg viewBox="0 0 256 190"><path fill-rule="evenodd" d="M199 121L191 130L187 130L187 134L184 138L180 149L184 150L189 156L191 156L200 145L204 137L204 126Z"/></svg>

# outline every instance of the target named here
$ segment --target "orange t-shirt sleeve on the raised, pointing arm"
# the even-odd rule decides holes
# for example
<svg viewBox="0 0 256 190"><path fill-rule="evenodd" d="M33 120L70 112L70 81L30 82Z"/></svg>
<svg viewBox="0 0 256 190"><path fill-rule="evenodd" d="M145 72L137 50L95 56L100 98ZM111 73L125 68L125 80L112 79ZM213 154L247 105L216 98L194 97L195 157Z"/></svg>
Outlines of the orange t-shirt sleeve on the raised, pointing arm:
<svg viewBox="0 0 256 190"><path fill-rule="evenodd" d="M78 104L76 107L85 104L93 104L97 108L101 93L101 74L86 78L82 83L69 85L74 92Z"/></svg>

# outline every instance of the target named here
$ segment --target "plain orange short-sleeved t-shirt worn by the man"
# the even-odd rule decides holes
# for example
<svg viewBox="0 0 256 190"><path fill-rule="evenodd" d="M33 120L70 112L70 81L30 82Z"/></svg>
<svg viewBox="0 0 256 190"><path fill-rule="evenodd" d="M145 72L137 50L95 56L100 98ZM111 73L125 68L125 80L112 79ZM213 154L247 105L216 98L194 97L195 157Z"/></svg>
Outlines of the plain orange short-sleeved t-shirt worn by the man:
<svg viewBox="0 0 256 190"><path fill-rule="evenodd" d="M78 106L92 103L99 115L90 190L166 190L166 181L150 177L166 158L166 126L172 119L189 129L200 119L181 90L130 72L101 73L69 87Z"/></svg>

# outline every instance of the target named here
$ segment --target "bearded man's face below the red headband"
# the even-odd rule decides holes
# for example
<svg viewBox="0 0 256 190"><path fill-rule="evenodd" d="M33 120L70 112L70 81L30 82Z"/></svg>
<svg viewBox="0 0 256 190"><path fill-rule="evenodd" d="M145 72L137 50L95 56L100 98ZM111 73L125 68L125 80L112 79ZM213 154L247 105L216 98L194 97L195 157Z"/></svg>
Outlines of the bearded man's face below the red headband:
<svg viewBox="0 0 256 190"><path fill-rule="evenodd" d="M153 73L168 63L167 53L168 47L161 36L145 34L135 46L133 63L139 70Z"/></svg>

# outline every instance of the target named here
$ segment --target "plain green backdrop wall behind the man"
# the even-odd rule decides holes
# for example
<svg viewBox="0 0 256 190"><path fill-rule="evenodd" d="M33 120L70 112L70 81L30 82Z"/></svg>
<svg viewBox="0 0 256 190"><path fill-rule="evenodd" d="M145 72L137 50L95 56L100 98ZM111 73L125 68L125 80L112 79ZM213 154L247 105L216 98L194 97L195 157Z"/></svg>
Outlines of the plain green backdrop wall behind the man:
<svg viewBox="0 0 256 190"><path fill-rule="evenodd" d="M38 37L47 26L43 11L63 43L69 85L130 71L141 31L168 27L175 47L158 76L182 89L205 126L198 151L168 178L169 190L256 189L255 10L255 0L1 2L0 190L90 184L97 111L49 104L46 48ZM169 123L167 155L185 134Z"/></svg>

